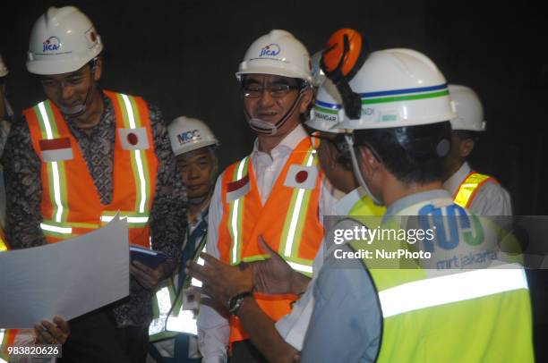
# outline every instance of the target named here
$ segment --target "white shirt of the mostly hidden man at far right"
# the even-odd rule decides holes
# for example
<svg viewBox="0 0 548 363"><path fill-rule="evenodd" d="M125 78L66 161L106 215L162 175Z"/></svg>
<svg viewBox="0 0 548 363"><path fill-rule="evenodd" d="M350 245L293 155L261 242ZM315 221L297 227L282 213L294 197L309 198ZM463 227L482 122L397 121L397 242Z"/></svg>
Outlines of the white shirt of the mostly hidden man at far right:
<svg viewBox="0 0 548 363"><path fill-rule="evenodd" d="M464 163L457 173L443 183L443 188L449 190L451 196L454 196L471 171L470 165ZM485 182L475 193L475 198L468 209L475 215L512 215L509 193L496 182Z"/></svg>

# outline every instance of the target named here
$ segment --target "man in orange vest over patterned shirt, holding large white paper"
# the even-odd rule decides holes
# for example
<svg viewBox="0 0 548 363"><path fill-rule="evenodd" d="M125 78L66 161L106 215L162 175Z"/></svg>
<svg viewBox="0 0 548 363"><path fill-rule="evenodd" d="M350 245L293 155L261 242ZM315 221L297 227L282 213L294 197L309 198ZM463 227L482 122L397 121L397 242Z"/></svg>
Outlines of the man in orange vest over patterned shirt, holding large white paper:
<svg viewBox="0 0 548 363"><path fill-rule="evenodd" d="M102 49L75 7L49 8L34 24L27 69L47 100L24 110L8 139L6 233L15 249L55 243L120 211L130 243L165 253L157 268L133 262L129 298L69 321L63 346L72 361L144 362L152 291L184 239L184 187L158 108L99 88Z"/></svg>

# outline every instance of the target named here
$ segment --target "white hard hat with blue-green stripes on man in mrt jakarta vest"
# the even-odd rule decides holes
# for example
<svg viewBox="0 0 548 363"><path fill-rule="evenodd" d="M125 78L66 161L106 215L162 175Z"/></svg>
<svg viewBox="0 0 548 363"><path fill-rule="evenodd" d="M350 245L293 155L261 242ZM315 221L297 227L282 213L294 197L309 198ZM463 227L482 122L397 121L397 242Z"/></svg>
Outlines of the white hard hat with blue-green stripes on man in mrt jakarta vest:
<svg viewBox="0 0 548 363"><path fill-rule="evenodd" d="M426 55L412 49L373 52L349 85L362 99L361 116L349 119L341 107L339 129L415 126L456 116L443 74Z"/></svg>

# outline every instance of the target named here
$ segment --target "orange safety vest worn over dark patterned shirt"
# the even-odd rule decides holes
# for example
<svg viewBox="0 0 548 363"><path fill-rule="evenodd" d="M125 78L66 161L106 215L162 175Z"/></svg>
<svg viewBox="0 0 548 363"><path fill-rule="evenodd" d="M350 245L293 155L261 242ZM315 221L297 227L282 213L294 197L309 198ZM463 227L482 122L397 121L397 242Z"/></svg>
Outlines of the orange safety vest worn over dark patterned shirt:
<svg viewBox="0 0 548 363"><path fill-rule="evenodd" d="M32 146L42 160L40 227L47 243L53 243L97 229L120 211L127 218L130 242L150 247L158 159L149 107L141 97L104 92L116 116L114 188L108 205L101 204L78 141L59 109L47 100L23 111Z"/></svg>

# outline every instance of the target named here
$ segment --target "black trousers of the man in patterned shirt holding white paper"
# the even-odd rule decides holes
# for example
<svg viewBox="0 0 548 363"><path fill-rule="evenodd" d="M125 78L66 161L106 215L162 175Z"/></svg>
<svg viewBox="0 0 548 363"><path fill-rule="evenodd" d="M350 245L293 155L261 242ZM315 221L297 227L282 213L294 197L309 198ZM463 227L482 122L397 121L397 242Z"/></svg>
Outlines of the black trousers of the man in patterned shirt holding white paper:
<svg viewBox="0 0 548 363"><path fill-rule="evenodd" d="M149 327L117 328L109 308L99 308L70 320L71 334L59 362L144 363L149 350Z"/></svg>

